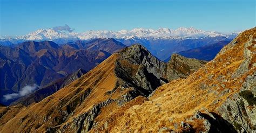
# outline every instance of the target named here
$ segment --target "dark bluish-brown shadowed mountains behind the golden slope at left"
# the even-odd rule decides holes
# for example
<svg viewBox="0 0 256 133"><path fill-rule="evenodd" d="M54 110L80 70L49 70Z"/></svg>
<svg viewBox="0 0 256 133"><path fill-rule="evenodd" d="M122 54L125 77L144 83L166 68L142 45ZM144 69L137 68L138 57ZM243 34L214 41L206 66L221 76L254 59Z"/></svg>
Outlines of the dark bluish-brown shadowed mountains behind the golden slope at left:
<svg viewBox="0 0 256 133"><path fill-rule="evenodd" d="M83 47L78 47L80 44ZM108 45L112 51L107 49ZM80 68L90 71L111 55L106 51L115 52L123 47L125 45L114 39L95 39L91 43L77 41L61 46L52 41L27 41L15 47L0 46L0 96L18 93L26 85L45 86ZM1 99L1 103L10 102Z"/></svg>

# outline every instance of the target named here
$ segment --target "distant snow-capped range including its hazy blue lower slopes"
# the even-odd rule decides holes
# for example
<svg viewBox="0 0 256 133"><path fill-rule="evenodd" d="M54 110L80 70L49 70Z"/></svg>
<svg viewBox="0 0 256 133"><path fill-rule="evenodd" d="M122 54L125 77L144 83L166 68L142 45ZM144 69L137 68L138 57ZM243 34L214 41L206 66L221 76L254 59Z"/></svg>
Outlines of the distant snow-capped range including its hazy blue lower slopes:
<svg viewBox="0 0 256 133"><path fill-rule="evenodd" d="M54 29L39 29L24 36L0 37L0 45L12 46L24 41L51 40L57 44L76 43L77 40L90 41L97 38L114 38L130 46L144 45L153 55L161 60L169 58L172 53L190 50L219 41L231 41L239 32L224 34L215 31L204 31L193 27L179 27L176 30L159 28L158 30L137 28L120 31L86 31L83 33L65 32Z"/></svg>

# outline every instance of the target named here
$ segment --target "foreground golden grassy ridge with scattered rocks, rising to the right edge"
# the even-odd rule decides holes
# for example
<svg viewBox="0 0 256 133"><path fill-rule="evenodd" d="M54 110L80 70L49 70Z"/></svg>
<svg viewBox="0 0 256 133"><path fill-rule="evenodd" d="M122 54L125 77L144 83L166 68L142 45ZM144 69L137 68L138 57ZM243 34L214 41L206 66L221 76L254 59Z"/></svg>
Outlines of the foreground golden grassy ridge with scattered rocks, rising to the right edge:
<svg viewBox="0 0 256 133"><path fill-rule="evenodd" d="M105 115L92 132L255 132L255 30L239 34L186 79Z"/></svg>

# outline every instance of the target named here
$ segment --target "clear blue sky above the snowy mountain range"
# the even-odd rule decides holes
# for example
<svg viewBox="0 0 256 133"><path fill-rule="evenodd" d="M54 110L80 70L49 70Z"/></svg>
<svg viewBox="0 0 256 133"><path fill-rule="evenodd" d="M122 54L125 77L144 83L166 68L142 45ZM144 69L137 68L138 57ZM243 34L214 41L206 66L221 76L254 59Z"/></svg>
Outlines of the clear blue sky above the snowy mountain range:
<svg viewBox="0 0 256 133"><path fill-rule="evenodd" d="M0 1L0 36L65 24L75 32L181 26L232 32L255 26L254 0Z"/></svg>

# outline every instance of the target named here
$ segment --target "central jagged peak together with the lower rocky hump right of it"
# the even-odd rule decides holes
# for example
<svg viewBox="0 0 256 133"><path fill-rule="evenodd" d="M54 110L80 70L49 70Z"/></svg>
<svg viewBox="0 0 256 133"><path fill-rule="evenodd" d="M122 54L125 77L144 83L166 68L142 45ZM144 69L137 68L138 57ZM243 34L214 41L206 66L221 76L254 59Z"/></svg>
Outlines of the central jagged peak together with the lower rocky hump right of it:
<svg viewBox="0 0 256 133"><path fill-rule="evenodd" d="M173 54L166 64L158 60L142 45L132 45L119 52L114 69L119 78L117 87L134 87L140 95L149 96L168 81L186 78L206 64L206 61L188 59Z"/></svg>

